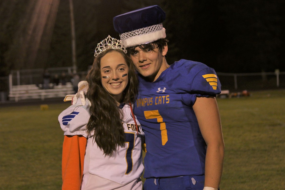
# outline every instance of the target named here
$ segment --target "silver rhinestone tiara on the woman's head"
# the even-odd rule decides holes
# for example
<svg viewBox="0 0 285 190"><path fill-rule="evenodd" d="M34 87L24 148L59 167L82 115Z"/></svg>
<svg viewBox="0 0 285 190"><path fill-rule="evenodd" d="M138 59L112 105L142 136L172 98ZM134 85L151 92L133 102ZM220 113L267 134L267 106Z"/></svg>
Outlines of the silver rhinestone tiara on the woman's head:
<svg viewBox="0 0 285 190"><path fill-rule="evenodd" d="M119 49L125 52L125 54L127 54L127 50L126 48L123 47L123 43L108 35L107 38L105 38L104 40L102 40L100 43L97 44L94 57L97 57L100 53L108 49Z"/></svg>

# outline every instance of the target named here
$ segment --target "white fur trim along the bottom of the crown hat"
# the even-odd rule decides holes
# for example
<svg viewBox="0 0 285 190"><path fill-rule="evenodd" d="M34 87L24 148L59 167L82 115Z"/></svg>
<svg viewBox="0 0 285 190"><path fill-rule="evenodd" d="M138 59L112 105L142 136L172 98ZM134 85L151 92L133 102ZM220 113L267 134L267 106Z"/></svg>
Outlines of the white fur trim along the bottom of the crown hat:
<svg viewBox="0 0 285 190"><path fill-rule="evenodd" d="M121 41L123 42L123 46L127 48L127 47L133 47L137 45L148 44L148 43L154 42L158 39L162 39L165 37L166 37L165 28L162 28L162 30L159 30L159 31L155 31L152 33L143 34L139 36L133 36L128 39L121 40Z"/></svg>

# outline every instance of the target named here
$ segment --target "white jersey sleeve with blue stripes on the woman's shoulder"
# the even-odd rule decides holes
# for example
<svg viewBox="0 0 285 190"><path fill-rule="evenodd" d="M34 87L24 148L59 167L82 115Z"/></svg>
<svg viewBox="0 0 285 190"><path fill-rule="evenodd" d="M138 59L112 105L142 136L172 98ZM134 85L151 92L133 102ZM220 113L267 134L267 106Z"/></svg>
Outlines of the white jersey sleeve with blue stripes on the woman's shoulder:
<svg viewBox="0 0 285 190"><path fill-rule="evenodd" d="M81 104L81 101L77 102ZM60 113L58 121L64 135L82 135L87 138L87 123L89 121L89 107L72 105Z"/></svg>

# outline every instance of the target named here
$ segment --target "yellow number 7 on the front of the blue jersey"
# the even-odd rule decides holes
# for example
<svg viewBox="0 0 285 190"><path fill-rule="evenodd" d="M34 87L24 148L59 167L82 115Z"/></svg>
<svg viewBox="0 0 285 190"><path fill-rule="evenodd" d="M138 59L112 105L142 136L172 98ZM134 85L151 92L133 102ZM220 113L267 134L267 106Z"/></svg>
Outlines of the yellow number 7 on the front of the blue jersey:
<svg viewBox="0 0 285 190"><path fill-rule="evenodd" d="M149 110L144 111L144 117L146 119L157 119L157 122L160 123L160 131L161 131L161 143L164 146L168 141L167 130L165 122L163 122L162 116L159 114L158 110Z"/></svg>

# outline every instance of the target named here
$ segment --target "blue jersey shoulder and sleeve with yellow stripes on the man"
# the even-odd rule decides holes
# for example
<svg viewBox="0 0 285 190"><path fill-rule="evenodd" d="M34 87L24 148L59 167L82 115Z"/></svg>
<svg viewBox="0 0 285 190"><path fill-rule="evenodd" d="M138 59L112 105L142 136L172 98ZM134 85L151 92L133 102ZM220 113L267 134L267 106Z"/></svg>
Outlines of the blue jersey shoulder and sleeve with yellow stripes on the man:
<svg viewBox="0 0 285 190"><path fill-rule="evenodd" d="M172 67L173 70L166 74L166 84L181 94L184 104L193 106L197 97L215 97L221 93L221 83L213 68L183 59Z"/></svg>

